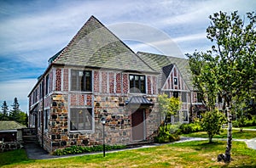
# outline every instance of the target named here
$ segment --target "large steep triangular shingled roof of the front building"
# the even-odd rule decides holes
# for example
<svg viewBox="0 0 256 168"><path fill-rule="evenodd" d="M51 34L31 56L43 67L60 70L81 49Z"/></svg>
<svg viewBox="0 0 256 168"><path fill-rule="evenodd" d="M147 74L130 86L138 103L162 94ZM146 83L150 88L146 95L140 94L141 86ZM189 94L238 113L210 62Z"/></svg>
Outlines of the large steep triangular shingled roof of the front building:
<svg viewBox="0 0 256 168"><path fill-rule="evenodd" d="M94 16L83 25L67 47L51 59L54 59L53 64L155 73Z"/></svg>

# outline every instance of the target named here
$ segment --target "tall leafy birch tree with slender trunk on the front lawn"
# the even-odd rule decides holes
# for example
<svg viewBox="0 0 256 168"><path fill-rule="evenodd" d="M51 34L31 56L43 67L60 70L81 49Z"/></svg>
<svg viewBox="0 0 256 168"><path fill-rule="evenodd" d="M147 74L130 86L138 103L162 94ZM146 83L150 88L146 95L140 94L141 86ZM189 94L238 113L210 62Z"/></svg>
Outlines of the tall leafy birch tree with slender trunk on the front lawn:
<svg viewBox="0 0 256 168"><path fill-rule="evenodd" d="M212 81L212 85L201 83L201 91L210 93L207 96L212 98L216 98L215 93L218 91L224 98L223 110L226 111L228 118L228 140L223 160L230 162L232 115L236 112L235 98L247 98L256 80L256 16L254 13L247 13L246 19L242 20L235 11L230 15L224 12L215 13L209 18L211 25L207 28L207 38L213 42L212 49L207 53L195 52L188 56L192 63L201 65L201 68L192 70L194 75L198 73L200 76L197 81ZM209 79L212 77L213 79Z"/></svg>

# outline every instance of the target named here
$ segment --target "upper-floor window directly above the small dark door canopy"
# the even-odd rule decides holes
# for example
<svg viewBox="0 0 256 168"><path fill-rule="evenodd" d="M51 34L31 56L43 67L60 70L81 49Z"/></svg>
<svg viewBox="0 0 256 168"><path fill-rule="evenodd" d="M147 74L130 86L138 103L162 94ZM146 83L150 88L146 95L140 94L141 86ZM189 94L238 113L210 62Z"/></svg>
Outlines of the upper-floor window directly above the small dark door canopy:
<svg viewBox="0 0 256 168"><path fill-rule="evenodd" d="M130 75L130 92L142 92L146 93L146 80L145 76Z"/></svg>

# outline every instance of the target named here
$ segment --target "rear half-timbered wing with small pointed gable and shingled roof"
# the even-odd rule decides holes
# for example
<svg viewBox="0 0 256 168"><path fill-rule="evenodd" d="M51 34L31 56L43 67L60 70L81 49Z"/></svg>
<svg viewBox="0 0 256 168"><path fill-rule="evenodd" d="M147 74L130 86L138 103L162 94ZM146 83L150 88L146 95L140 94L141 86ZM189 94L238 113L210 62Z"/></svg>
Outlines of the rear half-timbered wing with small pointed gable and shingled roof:
<svg viewBox="0 0 256 168"><path fill-rule="evenodd" d="M177 115L172 116L171 122L189 122L194 113L191 104L198 104L197 92L194 91L189 60L166 55L138 52L147 64L158 71L158 90L169 97L179 98L182 102ZM190 119L191 120L191 119Z"/></svg>

